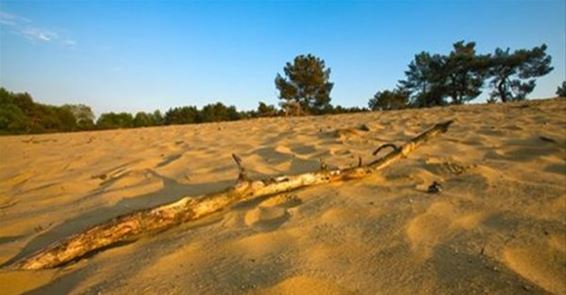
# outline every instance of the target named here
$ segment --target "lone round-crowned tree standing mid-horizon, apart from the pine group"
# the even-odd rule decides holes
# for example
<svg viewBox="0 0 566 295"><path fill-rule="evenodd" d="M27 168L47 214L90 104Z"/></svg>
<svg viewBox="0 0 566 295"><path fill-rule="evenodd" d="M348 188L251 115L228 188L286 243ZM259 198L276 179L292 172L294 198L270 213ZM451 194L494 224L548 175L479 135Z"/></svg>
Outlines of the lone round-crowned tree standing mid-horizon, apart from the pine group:
<svg viewBox="0 0 566 295"><path fill-rule="evenodd" d="M296 103L302 112L321 114L330 105L330 92L334 83L329 82L330 69L324 60L311 54L295 57L283 68L285 78L275 77L282 106L287 108Z"/></svg>

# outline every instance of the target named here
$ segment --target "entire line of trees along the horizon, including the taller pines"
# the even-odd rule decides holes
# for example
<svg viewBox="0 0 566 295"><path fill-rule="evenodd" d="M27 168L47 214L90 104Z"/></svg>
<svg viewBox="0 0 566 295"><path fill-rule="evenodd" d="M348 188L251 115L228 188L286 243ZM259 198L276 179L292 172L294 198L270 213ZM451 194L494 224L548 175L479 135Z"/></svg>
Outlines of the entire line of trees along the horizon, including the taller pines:
<svg viewBox="0 0 566 295"><path fill-rule="evenodd" d="M312 54L298 55L277 73L275 87L279 106L259 102L257 109L239 111L220 102L198 108L170 108L165 114L109 112L95 120L92 109L84 104L52 106L33 101L28 93L13 93L0 88L0 134L27 134L136 128L174 124L234 121L258 117L324 115L368 110L395 110L464 104L489 89L488 102L526 99L536 86L536 78L552 71L546 45L513 52L509 48L478 54L474 42L453 44L448 54L423 51L414 56L393 90L378 91L368 107L342 107L331 104L330 68ZM556 94L566 96L566 81Z"/></svg>

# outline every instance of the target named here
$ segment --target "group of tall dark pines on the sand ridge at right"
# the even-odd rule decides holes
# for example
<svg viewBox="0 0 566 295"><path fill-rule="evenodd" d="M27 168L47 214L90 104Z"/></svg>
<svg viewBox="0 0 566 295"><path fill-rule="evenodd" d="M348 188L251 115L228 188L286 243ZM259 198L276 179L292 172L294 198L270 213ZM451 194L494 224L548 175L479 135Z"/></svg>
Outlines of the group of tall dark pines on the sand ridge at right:
<svg viewBox="0 0 566 295"><path fill-rule="evenodd" d="M459 41L448 54L423 51L415 55L397 88L377 92L369 100L372 110L463 104L489 89L487 102L526 99L536 78L553 70L546 45L532 49L496 48L478 54L475 42ZM559 94L559 90L557 91Z"/></svg>

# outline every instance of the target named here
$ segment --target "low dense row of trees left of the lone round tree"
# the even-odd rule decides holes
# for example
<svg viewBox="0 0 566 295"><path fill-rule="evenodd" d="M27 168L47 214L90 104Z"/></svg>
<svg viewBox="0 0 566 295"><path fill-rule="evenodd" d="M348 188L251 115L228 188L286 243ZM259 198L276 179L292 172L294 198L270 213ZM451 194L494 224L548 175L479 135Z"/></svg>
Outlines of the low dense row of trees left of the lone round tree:
<svg viewBox="0 0 566 295"><path fill-rule="evenodd" d="M28 93L13 93L0 88L0 134L30 134L136 128L172 124L231 121L251 117L276 116L275 106L260 102L257 111L239 112L222 103L176 107L165 114L108 112L95 120L92 109L84 104L53 106L33 101Z"/></svg>

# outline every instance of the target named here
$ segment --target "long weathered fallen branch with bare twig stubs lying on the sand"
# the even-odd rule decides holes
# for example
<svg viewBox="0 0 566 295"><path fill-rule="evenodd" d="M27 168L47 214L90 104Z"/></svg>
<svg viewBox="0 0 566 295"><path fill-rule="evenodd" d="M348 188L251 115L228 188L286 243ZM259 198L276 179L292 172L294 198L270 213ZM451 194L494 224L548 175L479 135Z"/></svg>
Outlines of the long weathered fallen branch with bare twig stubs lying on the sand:
<svg viewBox="0 0 566 295"><path fill-rule="evenodd" d="M184 222L197 220L238 201L275 195L312 185L359 179L406 157L429 139L446 132L452 122L436 124L399 147L392 144L383 145L374 152L374 155L383 148L392 148L392 150L365 165L362 165L360 159L358 166L352 168L328 169L325 165L321 165L321 169L315 172L251 180L246 175L241 159L233 155L240 169L238 181L233 187L200 197L184 197L173 203L116 217L52 243L16 261L10 268L36 270L58 267L117 243L134 241L143 235L154 234Z"/></svg>

